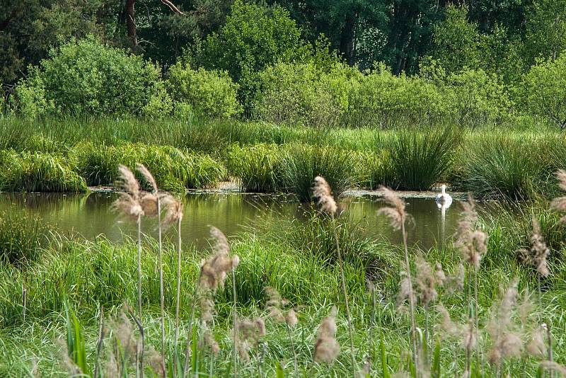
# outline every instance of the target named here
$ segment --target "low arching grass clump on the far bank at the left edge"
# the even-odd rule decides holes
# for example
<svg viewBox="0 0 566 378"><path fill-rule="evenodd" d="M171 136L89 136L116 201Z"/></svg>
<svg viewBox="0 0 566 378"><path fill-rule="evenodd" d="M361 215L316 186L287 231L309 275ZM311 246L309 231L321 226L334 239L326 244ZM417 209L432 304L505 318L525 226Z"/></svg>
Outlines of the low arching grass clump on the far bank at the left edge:
<svg viewBox="0 0 566 378"><path fill-rule="evenodd" d="M0 190L84 192L86 183L69 159L41 152L0 151Z"/></svg>

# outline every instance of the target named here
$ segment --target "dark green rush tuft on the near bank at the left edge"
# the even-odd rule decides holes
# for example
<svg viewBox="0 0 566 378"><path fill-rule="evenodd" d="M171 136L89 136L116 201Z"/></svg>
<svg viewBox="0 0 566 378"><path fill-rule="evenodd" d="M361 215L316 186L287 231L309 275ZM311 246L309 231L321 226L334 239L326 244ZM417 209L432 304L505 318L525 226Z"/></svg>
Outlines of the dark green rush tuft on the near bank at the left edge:
<svg viewBox="0 0 566 378"><path fill-rule="evenodd" d="M37 260L47 246L51 228L22 212L0 214L0 261L21 264Z"/></svg>

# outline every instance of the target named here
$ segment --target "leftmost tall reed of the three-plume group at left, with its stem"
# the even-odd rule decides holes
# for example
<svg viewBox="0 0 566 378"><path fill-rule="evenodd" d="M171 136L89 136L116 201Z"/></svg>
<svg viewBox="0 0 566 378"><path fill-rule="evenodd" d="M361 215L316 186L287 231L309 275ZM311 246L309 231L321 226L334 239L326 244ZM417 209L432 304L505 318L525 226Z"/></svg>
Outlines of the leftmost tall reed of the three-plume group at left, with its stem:
<svg viewBox="0 0 566 378"><path fill-rule="evenodd" d="M112 208L124 214L126 217L135 219L137 224L137 312L139 316L139 321L141 322L141 216L145 214L144 205L142 199L144 196L141 195L139 189L139 182L134 176L134 173L120 164L118 166L118 180L117 187L122 190L120 197L112 204ZM141 327L140 332L141 337L141 350L139 353L139 370L141 371L141 376L143 377L144 372L144 331Z"/></svg>

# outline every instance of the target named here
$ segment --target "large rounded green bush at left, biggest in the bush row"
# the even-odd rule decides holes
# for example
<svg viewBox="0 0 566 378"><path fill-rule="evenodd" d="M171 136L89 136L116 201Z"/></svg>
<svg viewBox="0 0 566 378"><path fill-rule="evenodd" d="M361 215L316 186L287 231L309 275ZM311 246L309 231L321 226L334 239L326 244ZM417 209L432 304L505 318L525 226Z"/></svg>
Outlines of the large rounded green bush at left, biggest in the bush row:
<svg viewBox="0 0 566 378"><path fill-rule="evenodd" d="M52 49L18 85L16 107L28 116L139 114L161 85L153 64L88 38Z"/></svg>

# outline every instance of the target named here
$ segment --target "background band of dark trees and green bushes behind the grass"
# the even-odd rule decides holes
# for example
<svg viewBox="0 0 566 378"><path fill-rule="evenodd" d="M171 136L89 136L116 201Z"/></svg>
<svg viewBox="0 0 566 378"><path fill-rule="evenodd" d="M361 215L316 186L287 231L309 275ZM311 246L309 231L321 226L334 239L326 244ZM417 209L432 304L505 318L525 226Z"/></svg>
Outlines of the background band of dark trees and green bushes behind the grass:
<svg viewBox="0 0 566 378"><path fill-rule="evenodd" d="M4 114L564 127L564 0L0 5Z"/></svg>

